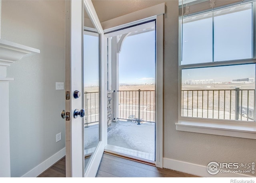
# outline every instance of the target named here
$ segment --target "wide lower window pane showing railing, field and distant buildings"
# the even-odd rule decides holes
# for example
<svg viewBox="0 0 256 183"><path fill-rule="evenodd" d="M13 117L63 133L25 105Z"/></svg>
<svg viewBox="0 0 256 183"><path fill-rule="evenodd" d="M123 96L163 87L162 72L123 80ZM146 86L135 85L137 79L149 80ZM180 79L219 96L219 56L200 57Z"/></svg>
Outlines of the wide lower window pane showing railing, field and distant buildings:
<svg viewBox="0 0 256 183"><path fill-rule="evenodd" d="M181 115L254 121L255 64L182 69Z"/></svg>

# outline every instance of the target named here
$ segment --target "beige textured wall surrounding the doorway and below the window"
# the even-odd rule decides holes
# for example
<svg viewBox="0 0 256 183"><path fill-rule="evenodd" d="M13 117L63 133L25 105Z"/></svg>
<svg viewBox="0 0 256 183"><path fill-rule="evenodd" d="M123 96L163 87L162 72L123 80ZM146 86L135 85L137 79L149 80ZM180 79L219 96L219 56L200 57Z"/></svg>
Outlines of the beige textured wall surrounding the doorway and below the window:
<svg viewBox="0 0 256 183"><path fill-rule="evenodd" d="M180 132L178 122L178 1L93 0L101 22L165 2L164 15L164 157L206 166L211 161L251 162L255 140Z"/></svg>

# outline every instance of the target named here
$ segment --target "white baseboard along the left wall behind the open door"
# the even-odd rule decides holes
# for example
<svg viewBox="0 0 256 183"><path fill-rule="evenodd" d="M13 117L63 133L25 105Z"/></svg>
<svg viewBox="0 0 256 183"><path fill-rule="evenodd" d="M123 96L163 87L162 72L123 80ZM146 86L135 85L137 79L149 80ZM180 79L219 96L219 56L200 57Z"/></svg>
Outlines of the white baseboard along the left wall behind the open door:
<svg viewBox="0 0 256 183"><path fill-rule="evenodd" d="M59 161L65 155L66 155L66 148L63 148L62 150L55 153L54 155L52 155L51 157L49 157L48 159L46 159L45 161L43 161L42 163L34 167L32 170L22 175L21 177L37 177L38 175L46 171L46 169L54 165L54 163Z"/></svg>

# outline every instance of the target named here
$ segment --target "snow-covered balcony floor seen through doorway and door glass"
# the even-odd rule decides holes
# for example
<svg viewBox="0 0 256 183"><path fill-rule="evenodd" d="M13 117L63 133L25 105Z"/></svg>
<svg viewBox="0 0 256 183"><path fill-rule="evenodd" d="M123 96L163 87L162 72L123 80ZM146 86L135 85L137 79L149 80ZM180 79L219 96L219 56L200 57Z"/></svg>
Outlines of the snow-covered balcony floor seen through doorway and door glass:
<svg viewBox="0 0 256 183"><path fill-rule="evenodd" d="M85 151L98 144L98 125L84 128ZM155 153L155 124L129 121L112 122L108 144L146 153Z"/></svg>

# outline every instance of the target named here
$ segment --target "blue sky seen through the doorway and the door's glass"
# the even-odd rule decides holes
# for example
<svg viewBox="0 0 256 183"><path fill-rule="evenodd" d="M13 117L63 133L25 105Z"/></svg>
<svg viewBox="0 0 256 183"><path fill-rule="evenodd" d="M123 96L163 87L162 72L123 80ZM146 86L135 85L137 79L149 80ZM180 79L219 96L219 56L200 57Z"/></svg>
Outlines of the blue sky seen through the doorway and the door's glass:
<svg viewBox="0 0 256 183"><path fill-rule="evenodd" d="M98 73L98 37L84 35L84 86L96 86ZM119 83L155 83L155 31L124 39L119 54Z"/></svg>

